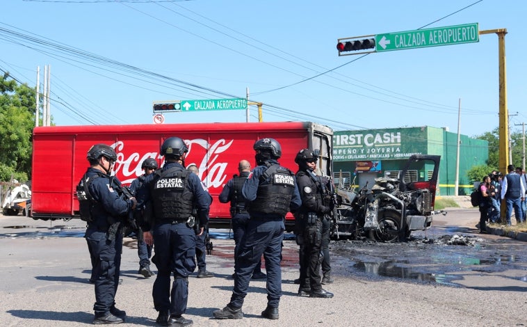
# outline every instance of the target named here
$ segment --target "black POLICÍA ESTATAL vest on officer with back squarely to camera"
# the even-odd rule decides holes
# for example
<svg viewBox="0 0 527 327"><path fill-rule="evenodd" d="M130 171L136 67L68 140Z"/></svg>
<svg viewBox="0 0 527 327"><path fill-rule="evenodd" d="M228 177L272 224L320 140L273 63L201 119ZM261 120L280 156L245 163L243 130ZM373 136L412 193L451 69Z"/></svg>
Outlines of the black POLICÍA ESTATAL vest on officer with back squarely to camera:
<svg viewBox="0 0 527 327"><path fill-rule="evenodd" d="M183 220L192 215L194 195L186 188L190 172L179 167L157 170L150 184L156 220Z"/></svg>

